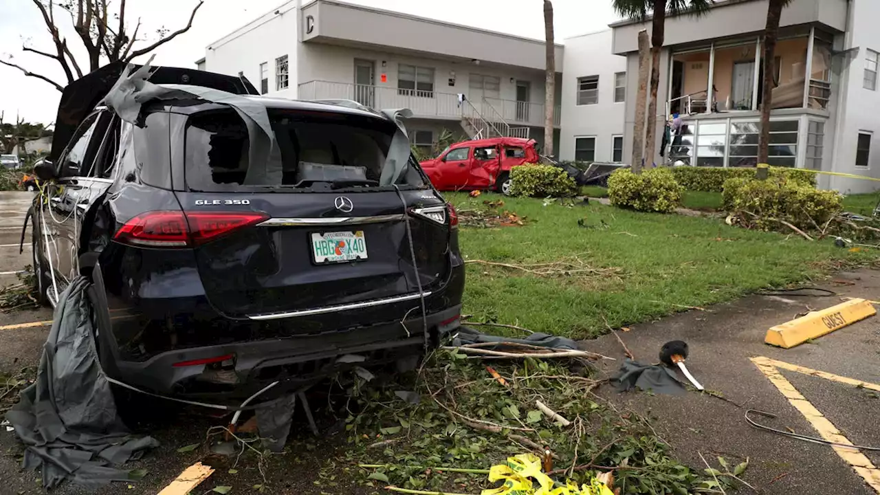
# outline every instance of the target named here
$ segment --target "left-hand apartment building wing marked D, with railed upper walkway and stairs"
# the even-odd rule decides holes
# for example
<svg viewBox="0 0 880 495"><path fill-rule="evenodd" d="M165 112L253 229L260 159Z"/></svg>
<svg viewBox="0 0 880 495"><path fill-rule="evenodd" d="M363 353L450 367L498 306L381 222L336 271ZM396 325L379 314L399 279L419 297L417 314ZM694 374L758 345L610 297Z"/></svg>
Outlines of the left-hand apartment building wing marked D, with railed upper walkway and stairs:
<svg viewBox="0 0 880 495"><path fill-rule="evenodd" d="M410 139L426 147L443 129L543 142L543 41L335 0L299 4L211 43L199 69L243 75L270 96L409 108ZM556 58L558 105L561 45Z"/></svg>

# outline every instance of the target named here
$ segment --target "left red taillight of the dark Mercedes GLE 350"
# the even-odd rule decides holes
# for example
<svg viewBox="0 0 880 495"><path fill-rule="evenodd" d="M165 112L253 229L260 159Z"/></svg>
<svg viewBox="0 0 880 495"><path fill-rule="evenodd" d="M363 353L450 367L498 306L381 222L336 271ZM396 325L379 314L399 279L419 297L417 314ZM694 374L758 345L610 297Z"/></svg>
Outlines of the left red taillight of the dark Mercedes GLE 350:
<svg viewBox="0 0 880 495"><path fill-rule="evenodd" d="M268 218L263 213L148 211L116 231L114 240L143 247L192 247Z"/></svg>

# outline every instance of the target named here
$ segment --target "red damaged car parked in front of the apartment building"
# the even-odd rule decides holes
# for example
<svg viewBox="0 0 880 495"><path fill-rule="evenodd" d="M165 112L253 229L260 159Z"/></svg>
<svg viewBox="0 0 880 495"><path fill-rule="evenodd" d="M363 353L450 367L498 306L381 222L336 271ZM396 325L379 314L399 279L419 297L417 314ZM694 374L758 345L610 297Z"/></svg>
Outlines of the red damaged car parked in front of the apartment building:
<svg viewBox="0 0 880 495"><path fill-rule="evenodd" d="M452 144L419 165L441 191L495 189L509 194L510 169L539 160L534 139L492 137Z"/></svg>

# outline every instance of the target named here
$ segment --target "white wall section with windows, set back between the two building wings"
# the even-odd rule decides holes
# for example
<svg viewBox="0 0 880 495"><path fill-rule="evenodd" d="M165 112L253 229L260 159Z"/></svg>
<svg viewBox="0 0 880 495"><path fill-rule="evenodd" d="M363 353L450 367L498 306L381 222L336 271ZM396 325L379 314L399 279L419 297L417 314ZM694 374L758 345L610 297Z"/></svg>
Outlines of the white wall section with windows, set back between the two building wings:
<svg viewBox="0 0 880 495"><path fill-rule="evenodd" d="M612 161L612 136L625 134L626 109L626 102L614 102L614 74L627 72L627 57L612 54L610 29L568 38L565 40L564 57L561 137L557 155L564 160L575 159L576 137L596 137L596 161ZM577 78L597 75L598 104L577 105ZM629 134L631 136L632 131ZM629 161L626 152L623 161Z"/></svg>

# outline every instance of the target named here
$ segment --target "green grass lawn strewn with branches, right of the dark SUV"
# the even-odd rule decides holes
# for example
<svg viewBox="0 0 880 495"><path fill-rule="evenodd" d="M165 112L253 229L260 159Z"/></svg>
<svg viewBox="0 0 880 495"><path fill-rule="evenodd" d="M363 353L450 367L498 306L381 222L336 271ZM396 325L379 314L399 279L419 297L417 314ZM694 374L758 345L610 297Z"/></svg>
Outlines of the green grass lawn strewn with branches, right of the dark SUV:
<svg viewBox="0 0 880 495"><path fill-rule="evenodd" d="M484 194L449 194L459 210L487 208ZM865 261L832 242L761 233L712 218L625 211L590 203L547 206L541 200L503 198L500 211L524 226L460 232L468 260L517 265L580 260L620 275L538 277L522 270L467 264L465 313L556 335L587 337L612 327L649 321L684 307L704 307L765 287L817 276L832 262ZM569 203L570 204L570 203ZM578 225L578 220L588 228ZM576 258L575 258L576 257ZM482 327L481 327L482 329ZM502 330L499 330L502 331ZM511 330L510 335L520 335Z"/></svg>

